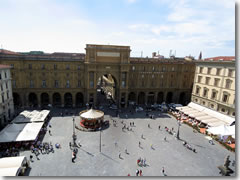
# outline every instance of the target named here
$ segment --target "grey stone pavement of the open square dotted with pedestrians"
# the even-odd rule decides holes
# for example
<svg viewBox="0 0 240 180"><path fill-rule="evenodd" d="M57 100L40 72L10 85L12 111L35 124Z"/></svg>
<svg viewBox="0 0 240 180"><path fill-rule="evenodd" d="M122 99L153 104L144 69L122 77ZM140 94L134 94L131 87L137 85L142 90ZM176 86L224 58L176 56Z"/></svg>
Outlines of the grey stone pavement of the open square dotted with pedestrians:
<svg viewBox="0 0 240 180"><path fill-rule="evenodd" d="M74 113L79 111L72 110ZM121 113L118 119L111 116L114 114L112 110L104 110L104 118L110 121L110 126L101 132L101 153L100 131L83 132L76 129L77 142L80 141L82 147L78 149L75 163L72 163L69 147L73 133L72 116L60 117L59 110L54 112L50 120L52 136L46 133L43 142L60 143L62 148L55 149L54 153L40 154L40 160L34 156L29 176L135 176L136 169L141 169L143 176L163 176L162 167L167 176L220 176L217 166L223 165L224 158L230 155L230 160L235 160L235 153L218 143L211 145L203 134L194 133L191 127L182 124L180 138L190 143L197 153L188 150L182 141L164 130L167 126L177 131L176 119L166 113L156 119L146 118L145 112L128 113L126 119L126 113ZM79 116L75 119L75 123L79 124ZM113 126L112 119L117 121L117 127ZM123 132L122 120L127 125L134 122L133 131ZM159 125L161 130L158 129ZM141 138L142 134L144 139ZM139 141L142 148L139 148ZM124 152L125 148L129 154ZM28 158L30 154L30 151L21 152ZM146 158L146 167L137 165L139 157ZM234 167L230 168L235 171Z"/></svg>

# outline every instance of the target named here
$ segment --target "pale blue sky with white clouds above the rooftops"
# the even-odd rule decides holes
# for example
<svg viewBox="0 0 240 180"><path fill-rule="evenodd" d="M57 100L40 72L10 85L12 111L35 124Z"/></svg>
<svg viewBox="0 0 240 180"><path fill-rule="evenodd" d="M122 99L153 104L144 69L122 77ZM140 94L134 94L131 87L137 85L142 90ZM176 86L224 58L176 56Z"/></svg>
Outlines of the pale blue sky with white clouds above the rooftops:
<svg viewBox="0 0 240 180"><path fill-rule="evenodd" d="M234 0L0 0L1 48L85 53L126 45L131 57L235 55Z"/></svg>

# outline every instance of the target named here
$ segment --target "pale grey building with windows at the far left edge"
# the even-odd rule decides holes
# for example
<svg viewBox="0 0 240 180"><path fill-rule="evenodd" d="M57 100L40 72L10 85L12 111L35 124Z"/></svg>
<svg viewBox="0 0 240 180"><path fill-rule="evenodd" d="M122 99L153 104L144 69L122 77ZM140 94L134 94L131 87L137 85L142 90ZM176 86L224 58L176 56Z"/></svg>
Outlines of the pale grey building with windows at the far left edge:
<svg viewBox="0 0 240 180"><path fill-rule="evenodd" d="M14 115L10 66L0 64L0 129Z"/></svg>

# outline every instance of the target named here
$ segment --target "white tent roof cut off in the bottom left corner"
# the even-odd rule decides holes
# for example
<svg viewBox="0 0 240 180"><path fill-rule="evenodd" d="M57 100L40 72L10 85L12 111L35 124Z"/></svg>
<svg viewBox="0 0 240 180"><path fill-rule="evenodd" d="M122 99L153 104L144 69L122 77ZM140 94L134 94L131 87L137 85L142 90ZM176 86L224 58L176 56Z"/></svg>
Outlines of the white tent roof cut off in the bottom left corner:
<svg viewBox="0 0 240 180"><path fill-rule="evenodd" d="M0 176L17 176L26 162L25 156L0 158Z"/></svg>

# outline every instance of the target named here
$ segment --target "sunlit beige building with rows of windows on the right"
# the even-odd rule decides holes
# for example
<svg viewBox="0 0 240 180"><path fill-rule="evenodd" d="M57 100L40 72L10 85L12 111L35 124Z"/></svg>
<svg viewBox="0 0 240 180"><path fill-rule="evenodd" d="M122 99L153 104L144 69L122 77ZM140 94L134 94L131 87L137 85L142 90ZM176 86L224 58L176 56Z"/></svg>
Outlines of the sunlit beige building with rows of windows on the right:
<svg viewBox="0 0 240 180"><path fill-rule="evenodd" d="M196 61L192 102L235 116L235 57Z"/></svg>

